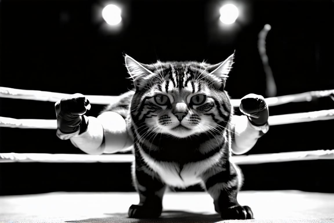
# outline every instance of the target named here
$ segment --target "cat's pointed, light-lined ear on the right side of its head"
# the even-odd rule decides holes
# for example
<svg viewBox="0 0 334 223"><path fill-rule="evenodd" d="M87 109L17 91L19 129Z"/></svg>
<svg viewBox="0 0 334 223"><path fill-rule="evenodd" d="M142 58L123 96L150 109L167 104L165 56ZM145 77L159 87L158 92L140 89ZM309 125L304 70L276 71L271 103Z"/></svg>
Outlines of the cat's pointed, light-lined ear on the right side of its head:
<svg viewBox="0 0 334 223"><path fill-rule="evenodd" d="M209 75L214 78L215 81L213 82L213 85L217 89L224 90L228 73L232 69L233 59L234 52L225 61L206 68L206 70L210 72Z"/></svg>

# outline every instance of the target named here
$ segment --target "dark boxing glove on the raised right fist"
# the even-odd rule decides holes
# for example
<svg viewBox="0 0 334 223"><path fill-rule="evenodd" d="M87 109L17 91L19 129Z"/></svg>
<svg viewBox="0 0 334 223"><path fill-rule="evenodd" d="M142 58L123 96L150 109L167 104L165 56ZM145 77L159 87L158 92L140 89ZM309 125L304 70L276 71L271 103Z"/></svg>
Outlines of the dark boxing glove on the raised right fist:
<svg viewBox="0 0 334 223"><path fill-rule="evenodd" d="M262 95L248 94L241 98L240 111L247 115L255 126L265 125L268 121L269 110Z"/></svg>

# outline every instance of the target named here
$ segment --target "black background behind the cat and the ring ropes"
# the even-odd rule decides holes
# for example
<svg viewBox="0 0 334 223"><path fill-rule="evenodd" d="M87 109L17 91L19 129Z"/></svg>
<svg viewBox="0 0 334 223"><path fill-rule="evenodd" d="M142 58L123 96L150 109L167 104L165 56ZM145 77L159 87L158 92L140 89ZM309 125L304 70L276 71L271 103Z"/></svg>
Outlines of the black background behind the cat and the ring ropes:
<svg viewBox="0 0 334 223"><path fill-rule="evenodd" d="M2 0L0 86L86 95L118 95L131 88L123 53L143 63L223 61L235 49L226 90L232 98L266 97L258 33L268 23L267 53L277 95L333 89L334 3L237 1L243 19L220 25L224 1L119 1L123 26L99 18L108 1ZM115 1L115 3L117 3ZM321 98L270 108L271 115L332 109ZM88 115L103 108L93 105ZM0 116L55 119L54 103L0 99ZM272 126L247 154L333 149L334 122ZM55 130L0 128L0 152L83 153ZM333 160L240 166L243 190L334 192ZM188 190L199 190L192 187ZM50 191L134 191L130 163L0 163L0 195Z"/></svg>

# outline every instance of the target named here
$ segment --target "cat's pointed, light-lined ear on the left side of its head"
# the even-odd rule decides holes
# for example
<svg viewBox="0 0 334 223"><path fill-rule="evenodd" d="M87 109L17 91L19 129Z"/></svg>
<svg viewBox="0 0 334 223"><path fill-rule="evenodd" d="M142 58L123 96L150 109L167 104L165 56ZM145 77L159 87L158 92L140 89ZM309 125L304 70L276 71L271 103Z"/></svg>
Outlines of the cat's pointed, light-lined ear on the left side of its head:
<svg viewBox="0 0 334 223"><path fill-rule="evenodd" d="M125 66L133 80L136 89L143 89L146 86L147 77L154 75L149 65L139 63L129 55L125 54Z"/></svg>

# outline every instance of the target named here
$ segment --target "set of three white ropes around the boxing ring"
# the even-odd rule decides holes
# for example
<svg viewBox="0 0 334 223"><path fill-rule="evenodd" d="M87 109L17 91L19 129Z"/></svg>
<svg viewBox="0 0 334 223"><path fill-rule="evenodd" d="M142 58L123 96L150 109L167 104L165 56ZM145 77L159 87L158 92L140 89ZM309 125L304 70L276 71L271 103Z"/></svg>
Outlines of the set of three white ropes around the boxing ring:
<svg viewBox="0 0 334 223"><path fill-rule="evenodd" d="M292 102L312 101L320 97L331 97L334 90L311 91L295 95L266 98L267 105L276 106ZM69 94L21 90L0 87L0 97L11 99L57 102ZM108 105L117 101L119 96L86 95L91 104ZM238 107L240 99L232 99L232 105ZM270 126L334 119L334 109L313 112L293 113L270 116ZM0 127L57 129L57 121L49 119L14 119L0 117ZM334 150L314 150L282 152L275 154L238 155L232 157L237 164L255 164L264 162L282 162L311 159L334 159ZM0 153L0 162L132 162L131 154L86 155L86 154L47 154L47 153Z"/></svg>

